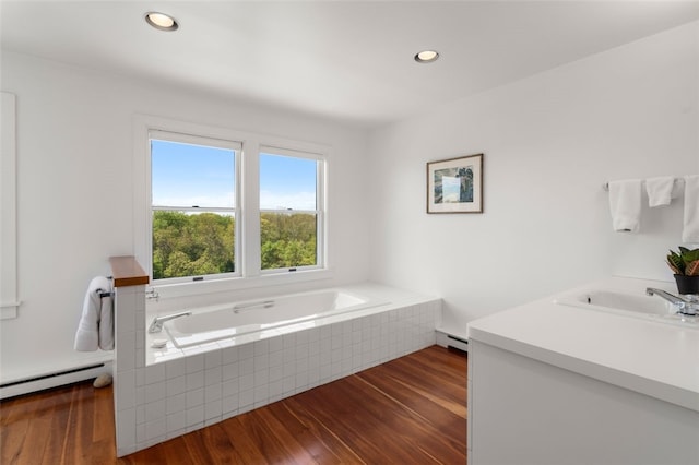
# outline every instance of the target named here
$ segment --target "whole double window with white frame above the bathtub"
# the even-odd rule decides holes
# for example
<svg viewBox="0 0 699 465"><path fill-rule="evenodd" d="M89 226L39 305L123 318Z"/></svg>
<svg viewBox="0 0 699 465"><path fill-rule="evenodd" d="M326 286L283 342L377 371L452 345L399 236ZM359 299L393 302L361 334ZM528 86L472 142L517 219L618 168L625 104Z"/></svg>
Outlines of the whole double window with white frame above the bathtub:
<svg viewBox="0 0 699 465"><path fill-rule="evenodd" d="M327 146L150 116L134 130L135 257L161 296L332 276Z"/></svg>

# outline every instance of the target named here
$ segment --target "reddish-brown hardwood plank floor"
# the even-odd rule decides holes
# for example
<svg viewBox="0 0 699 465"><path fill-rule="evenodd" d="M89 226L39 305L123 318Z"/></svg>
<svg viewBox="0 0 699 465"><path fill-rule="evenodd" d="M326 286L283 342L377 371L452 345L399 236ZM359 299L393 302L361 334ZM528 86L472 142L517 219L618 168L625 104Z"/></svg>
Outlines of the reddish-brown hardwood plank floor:
<svg viewBox="0 0 699 465"><path fill-rule="evenodd" d="M2 464L465 464L466 358L433 346L116 458L111 388L0 403Z"/></svg>

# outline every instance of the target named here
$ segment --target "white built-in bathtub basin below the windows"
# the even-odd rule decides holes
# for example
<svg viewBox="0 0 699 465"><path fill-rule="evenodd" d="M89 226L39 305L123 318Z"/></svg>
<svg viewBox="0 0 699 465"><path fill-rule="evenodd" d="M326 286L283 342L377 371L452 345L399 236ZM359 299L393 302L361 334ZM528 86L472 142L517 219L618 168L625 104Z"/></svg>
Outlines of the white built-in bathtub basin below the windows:
<svg viewBox="0 0 699 465"><path fill-rule="evenodd" d="M180 311L190 311L191 315L166 321L163 327L176 347L185 348L256 332L271 332L283 326L386 303L388 302L342 289L323 289L186 308Z"/></svg>

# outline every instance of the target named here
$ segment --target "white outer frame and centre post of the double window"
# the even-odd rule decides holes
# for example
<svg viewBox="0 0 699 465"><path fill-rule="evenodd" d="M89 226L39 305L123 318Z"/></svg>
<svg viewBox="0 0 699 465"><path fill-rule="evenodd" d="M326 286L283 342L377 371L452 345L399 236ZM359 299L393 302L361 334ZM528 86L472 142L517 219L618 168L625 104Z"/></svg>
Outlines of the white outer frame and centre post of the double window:
<svg viewBox="0 0 699 465"><path fill-rule="evenodd" d="M241 144L241 156L237 162L239 163L239 175L237 175L239 176L239 182L236 187L239 189L236 202L240 202L239 210L236 212L236 235L238 247L240 247L236 251L236 260L239 260L240 264L239 267L236 267L236 273L239 272L239 276L218 277L218 275L214 275L217 277L198 282L187 278L182 282L165 283L165 279L153 282L152 227L150 225L150 222L152 222L150 133L158 130L205 139L238 141ZM157 288L161 299L248 288L287 286L311 281L328 281L334 276L330 254L328 253L328 174L332 166L330 146L146 115L134 116L133 133L134 255L151 275L151 286ZM323 170L318 177L319 186L317 192L322 192L321 204L318 207L322 211L322 214L318 220L320 236L317 238L318 265L315 267L297 269L296 272L289 272L287 269L269 271L269 273L268 271L264 273L261 271L259 196L259 155L262 152L261 147L280 155L283 154L282 151L285 151L284 153L291 153L293 154L292 156L306 154L306 156L310 155L323 160L321 164Z"/></svg>

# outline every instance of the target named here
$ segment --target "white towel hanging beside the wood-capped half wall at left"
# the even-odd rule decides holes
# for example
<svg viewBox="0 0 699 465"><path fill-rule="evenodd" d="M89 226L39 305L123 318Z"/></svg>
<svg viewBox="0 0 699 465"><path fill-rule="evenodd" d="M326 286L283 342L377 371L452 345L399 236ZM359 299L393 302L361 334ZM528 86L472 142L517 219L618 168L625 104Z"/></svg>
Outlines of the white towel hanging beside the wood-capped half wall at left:
<svg viewBox="0 0 699 465"><path fill-rule="evenodd" d="M100 295L105 294L105 297ZM114 305L111 281L97 276L90 282L83 314L75 333L75 350L93 351L114 349Z"/></svg>

